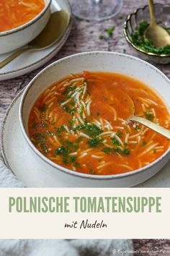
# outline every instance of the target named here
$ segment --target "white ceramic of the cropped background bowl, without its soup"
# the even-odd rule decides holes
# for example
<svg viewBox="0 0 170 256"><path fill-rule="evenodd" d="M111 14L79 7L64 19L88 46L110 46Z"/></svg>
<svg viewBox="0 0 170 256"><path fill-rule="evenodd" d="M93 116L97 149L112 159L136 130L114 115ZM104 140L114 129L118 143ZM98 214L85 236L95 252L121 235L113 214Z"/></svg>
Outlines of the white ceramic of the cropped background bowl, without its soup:
<svg viewBox="0 0 170 256"><path fill-rule="evenodd" d="M50 19L51 1L45 0L45 8L30 22L24 23L12 30L0 32L0 54L6 54L9 51L27 45L27 43L41 33Z"/></svg>

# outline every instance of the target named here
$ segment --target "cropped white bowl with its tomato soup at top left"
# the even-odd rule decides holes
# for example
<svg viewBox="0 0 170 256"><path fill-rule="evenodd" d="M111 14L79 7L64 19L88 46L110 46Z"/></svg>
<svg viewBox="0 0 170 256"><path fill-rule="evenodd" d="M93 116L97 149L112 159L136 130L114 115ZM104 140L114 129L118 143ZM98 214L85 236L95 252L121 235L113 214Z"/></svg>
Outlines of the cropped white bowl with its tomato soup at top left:
<svg viewBox="0 0 170 256"><path fill-rule="evenodd" d="M50 18L51 0L1 0L0 54L36 38Z"/></svg>

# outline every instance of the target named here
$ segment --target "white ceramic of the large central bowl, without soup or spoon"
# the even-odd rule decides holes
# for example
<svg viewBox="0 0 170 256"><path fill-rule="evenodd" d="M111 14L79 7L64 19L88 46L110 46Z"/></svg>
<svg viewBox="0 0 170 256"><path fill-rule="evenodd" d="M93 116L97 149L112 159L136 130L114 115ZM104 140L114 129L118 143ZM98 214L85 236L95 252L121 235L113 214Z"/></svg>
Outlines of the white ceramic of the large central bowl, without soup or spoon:
<svg viewBox="0 0 170 256"><path fill-rule="evenodd" d="M154 174L163 168L169 161L170 150L161 155L153 163L135 171L125 174L116 174L109 176L98 176L90 174L81 174L76 171L70 171L56 163L53 163L40 153L32 144L28 137L27 124L30 110L37 97L48 88L53 82L60 80L69 73L79 73L83 70L117 72L135 77L157 92L164 98L168 104L170 98L170 81L161 71L133 56L126 54L95 51L83 54L68 56L64 59L55 61L50 66L43 69L30 82L24 90L22 100L19 106L19 122L25 140L30 145L30 150L35 156L35 161L40 161L49 176L58 179L66 187L132 187L151 178ZM30 165L31 168L31 165Z"/></svg>

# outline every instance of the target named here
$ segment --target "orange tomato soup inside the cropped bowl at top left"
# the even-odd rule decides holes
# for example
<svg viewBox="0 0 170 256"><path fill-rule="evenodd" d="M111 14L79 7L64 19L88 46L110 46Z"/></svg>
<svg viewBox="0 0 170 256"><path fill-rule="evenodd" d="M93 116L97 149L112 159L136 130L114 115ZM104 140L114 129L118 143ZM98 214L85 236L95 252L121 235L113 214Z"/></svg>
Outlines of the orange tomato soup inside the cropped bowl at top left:
<svg viewBox="0 0 170 256"><path fill-rule="evenodd" d="M0 0L0 32L29 22L44 7L44 0Z"/></svg>

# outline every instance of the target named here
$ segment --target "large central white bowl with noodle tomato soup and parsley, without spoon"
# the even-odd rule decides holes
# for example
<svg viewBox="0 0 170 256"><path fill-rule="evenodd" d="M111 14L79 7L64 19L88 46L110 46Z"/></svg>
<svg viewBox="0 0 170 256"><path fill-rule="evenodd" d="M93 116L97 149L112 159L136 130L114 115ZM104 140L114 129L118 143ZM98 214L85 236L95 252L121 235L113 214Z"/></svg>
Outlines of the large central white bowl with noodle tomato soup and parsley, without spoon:
<svg viewBox="0 0 170 256"><path fill-rule="evenodd" d="M145 74L145 75L143 75ZM169 140L135 116L170 128L169 79L133 56L89 52L43 69L24 90L19 119L36 161L61 186L132 187L169 161Z"/></svg>

